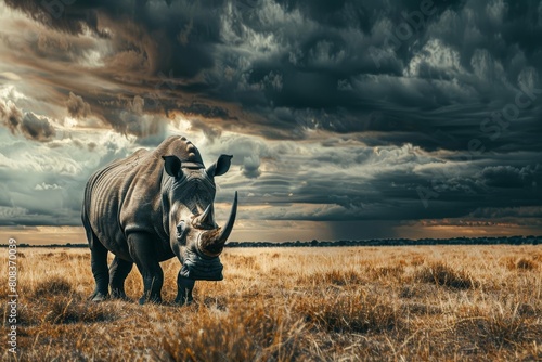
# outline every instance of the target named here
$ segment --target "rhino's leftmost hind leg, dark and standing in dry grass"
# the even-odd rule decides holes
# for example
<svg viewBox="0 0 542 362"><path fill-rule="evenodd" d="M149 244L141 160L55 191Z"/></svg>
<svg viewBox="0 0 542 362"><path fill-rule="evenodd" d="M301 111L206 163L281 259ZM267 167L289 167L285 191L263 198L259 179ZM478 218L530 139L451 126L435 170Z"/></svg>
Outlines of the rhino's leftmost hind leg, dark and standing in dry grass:
<svg viewBox="0 0 542 362"><path fill-rule="evenodd" d="M107 249L98 240L92 231L88 231L90 245L90 262L92 274L96 283L95 289L89 297L92 301L103 301L109 294L109 270L107 268Z"/></svg>

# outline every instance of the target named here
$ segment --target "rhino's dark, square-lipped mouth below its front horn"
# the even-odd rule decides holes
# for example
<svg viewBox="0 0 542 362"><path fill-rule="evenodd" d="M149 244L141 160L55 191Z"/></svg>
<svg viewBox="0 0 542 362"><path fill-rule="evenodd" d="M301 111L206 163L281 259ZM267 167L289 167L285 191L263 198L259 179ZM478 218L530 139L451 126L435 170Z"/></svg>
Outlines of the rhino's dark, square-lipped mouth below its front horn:
<svg viewBox="0 0 542 362"><path fill-rule="evenodd" d="M224 267L219 257L201 256L197 253L188 251L179 274L194 281L221 281L224 279L222 270Z"/></svg>

